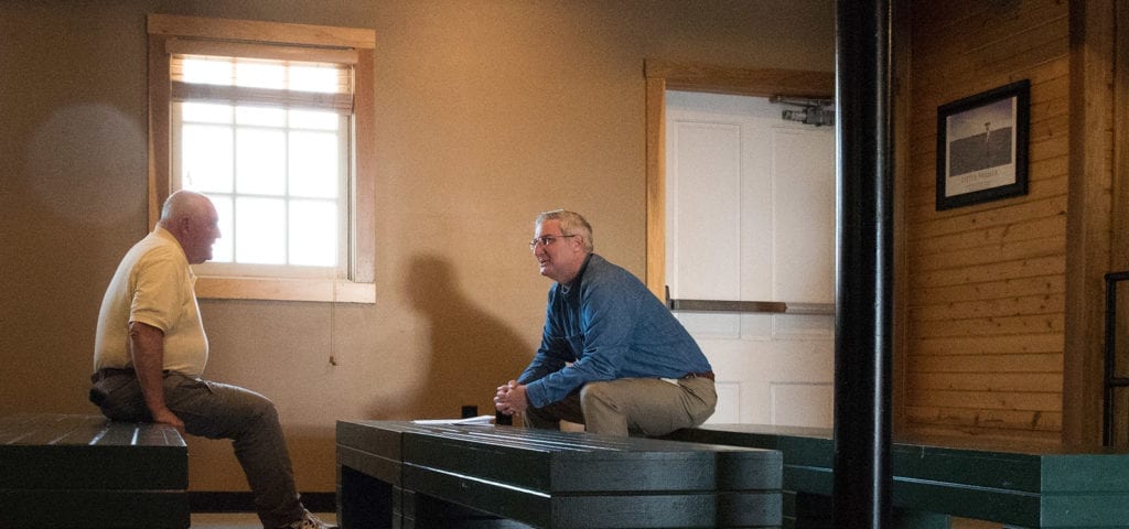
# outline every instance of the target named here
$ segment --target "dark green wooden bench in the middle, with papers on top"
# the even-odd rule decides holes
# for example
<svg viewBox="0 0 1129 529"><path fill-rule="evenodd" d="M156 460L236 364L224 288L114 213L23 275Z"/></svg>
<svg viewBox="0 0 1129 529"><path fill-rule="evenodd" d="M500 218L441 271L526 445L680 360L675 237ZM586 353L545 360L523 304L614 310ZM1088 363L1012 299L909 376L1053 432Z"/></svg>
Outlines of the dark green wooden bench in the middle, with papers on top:
<svg viewBox="0 0 1129 529"><path fill-rule="evenodd" d="M342 529L779 527L772 450L339 421Z"/></svg>

